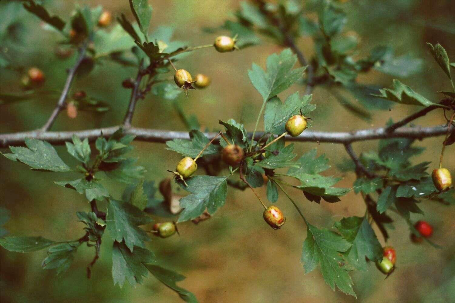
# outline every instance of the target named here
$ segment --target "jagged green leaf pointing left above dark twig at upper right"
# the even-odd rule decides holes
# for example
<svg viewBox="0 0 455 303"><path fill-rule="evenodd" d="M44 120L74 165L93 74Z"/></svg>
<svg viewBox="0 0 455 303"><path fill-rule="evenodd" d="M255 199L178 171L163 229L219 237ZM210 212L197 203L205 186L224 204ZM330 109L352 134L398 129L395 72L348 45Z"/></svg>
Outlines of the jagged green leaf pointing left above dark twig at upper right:
<svg viewBox="0 0 455 303"><path fill-rule="evenodd" d="M379 89L379 92L381 94L373 94L373 96L401 104L420 105L425 107L436 105L443 107L440 104L431 102L396 79L394 80L394 89Z"/></svg>

